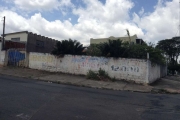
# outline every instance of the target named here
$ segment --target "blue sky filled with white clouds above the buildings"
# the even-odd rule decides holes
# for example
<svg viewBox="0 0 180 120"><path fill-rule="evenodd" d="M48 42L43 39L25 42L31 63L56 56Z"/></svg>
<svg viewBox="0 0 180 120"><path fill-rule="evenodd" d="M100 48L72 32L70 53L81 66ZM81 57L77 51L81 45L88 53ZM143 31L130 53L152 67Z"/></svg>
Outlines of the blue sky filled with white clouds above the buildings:
<svg viewBox="0 0 180 120"><path fill-rule="evenodd" d="M84 45L136 34L147 43L179 36L179 0L0 0L0 34L29 31Z"/></svg>

